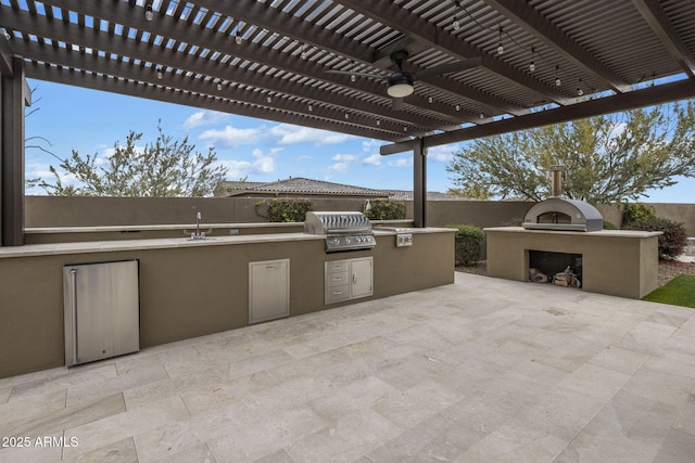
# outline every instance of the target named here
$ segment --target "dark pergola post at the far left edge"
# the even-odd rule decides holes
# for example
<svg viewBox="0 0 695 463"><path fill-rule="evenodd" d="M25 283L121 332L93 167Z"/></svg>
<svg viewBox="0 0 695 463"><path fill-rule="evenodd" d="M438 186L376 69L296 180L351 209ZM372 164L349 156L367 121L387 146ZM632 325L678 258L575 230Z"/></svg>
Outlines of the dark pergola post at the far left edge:
<svg viewBox="0 0 695 463"><path fill-rule="evenodd" d="M2 246L24 244L24 105L30 101L24 61L0 79L0 220Z"/></svg>

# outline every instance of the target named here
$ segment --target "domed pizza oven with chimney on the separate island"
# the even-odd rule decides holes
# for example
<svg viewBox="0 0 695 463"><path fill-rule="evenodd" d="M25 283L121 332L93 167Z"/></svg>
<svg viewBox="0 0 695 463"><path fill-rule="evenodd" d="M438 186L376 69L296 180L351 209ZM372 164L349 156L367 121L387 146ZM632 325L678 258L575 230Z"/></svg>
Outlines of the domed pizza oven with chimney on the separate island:
<svg viewBox="0 0 695 463"><path fill-rule="evenodd" d="M563 166L551 166L552 197L533 205L521 224L527 230L568 230L592 232L604 228L604 218L591 204L561 197Z"/></svg>

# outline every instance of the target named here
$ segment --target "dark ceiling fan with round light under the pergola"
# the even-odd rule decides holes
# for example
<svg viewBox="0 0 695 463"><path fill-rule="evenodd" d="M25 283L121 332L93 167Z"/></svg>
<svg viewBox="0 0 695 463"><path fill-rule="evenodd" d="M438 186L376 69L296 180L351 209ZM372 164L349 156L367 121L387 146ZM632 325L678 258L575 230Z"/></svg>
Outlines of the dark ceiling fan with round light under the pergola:
<svg viewBox="0 0 695 463"><path fill-rule="evenodd" d="M416 80L438 76L440 74L458 73L460 70L470 69L472 67L479 66L480 62L482 61L481 57L478 56L471 57L469 60L456 61L454 63L442 64L440 66L430 67L417 73L408 73L407 70L403 69L403 63L405 63L405 61L408 59L407 51L396 50L391 53L390 56L393 64L395 64L399 68L390 76L382 76L380 74L370 73L352 73L350 70L328 70L328 73L348 74L350 76L362 76L374 79L386 79L389 82L387 93L389 93L389 97L393 99L393 108L401 110L401 107L403 107L403 99L405 97L412 95L415 91L414 83Z"/></svg>

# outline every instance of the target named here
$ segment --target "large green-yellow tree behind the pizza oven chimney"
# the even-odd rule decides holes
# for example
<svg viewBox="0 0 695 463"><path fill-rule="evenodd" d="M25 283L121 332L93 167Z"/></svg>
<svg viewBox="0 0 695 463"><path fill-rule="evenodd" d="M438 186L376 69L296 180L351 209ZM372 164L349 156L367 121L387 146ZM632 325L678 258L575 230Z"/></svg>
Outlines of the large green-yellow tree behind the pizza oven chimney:
<svg viewBox="0 0 695 463"><path fill-rule="evenodd" d="M592 204L695 177L695 101L479 139L446 169L462 194L541 201L556 164L566 168L564 194Z"/></svg>

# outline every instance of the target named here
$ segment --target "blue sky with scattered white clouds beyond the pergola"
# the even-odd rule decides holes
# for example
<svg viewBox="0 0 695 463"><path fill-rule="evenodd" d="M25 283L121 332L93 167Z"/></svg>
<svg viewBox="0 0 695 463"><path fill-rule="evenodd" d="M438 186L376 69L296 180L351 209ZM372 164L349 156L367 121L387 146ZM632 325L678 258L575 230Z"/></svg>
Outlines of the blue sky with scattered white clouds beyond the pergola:
<svg viewBox="0 0 695 463"><path fill-rule="evenodd" d="M198 151L205 153L213 146L219 162L229 168L229 180L306 177L374 189L413 189L412 153L380 156L384 141L45 81L29 80L29 86L36 89L34 108L38 111L27 117L26 137L47 139L51 146L42 145L62 158L72 150L81 155L108 155L114 142L125 142L130 130L143 133L144 145L155 140L161 120L164 133L188 136ZM453 187L445 168L460 146L429 151L428 190L446 192ZM27 178L52 182L49 166L58 164L40 150L26 151ZM27 194L45 192L36 189ZM695 179L681 179L678 185L649 192L644 201L695 203Z"/></svg>

